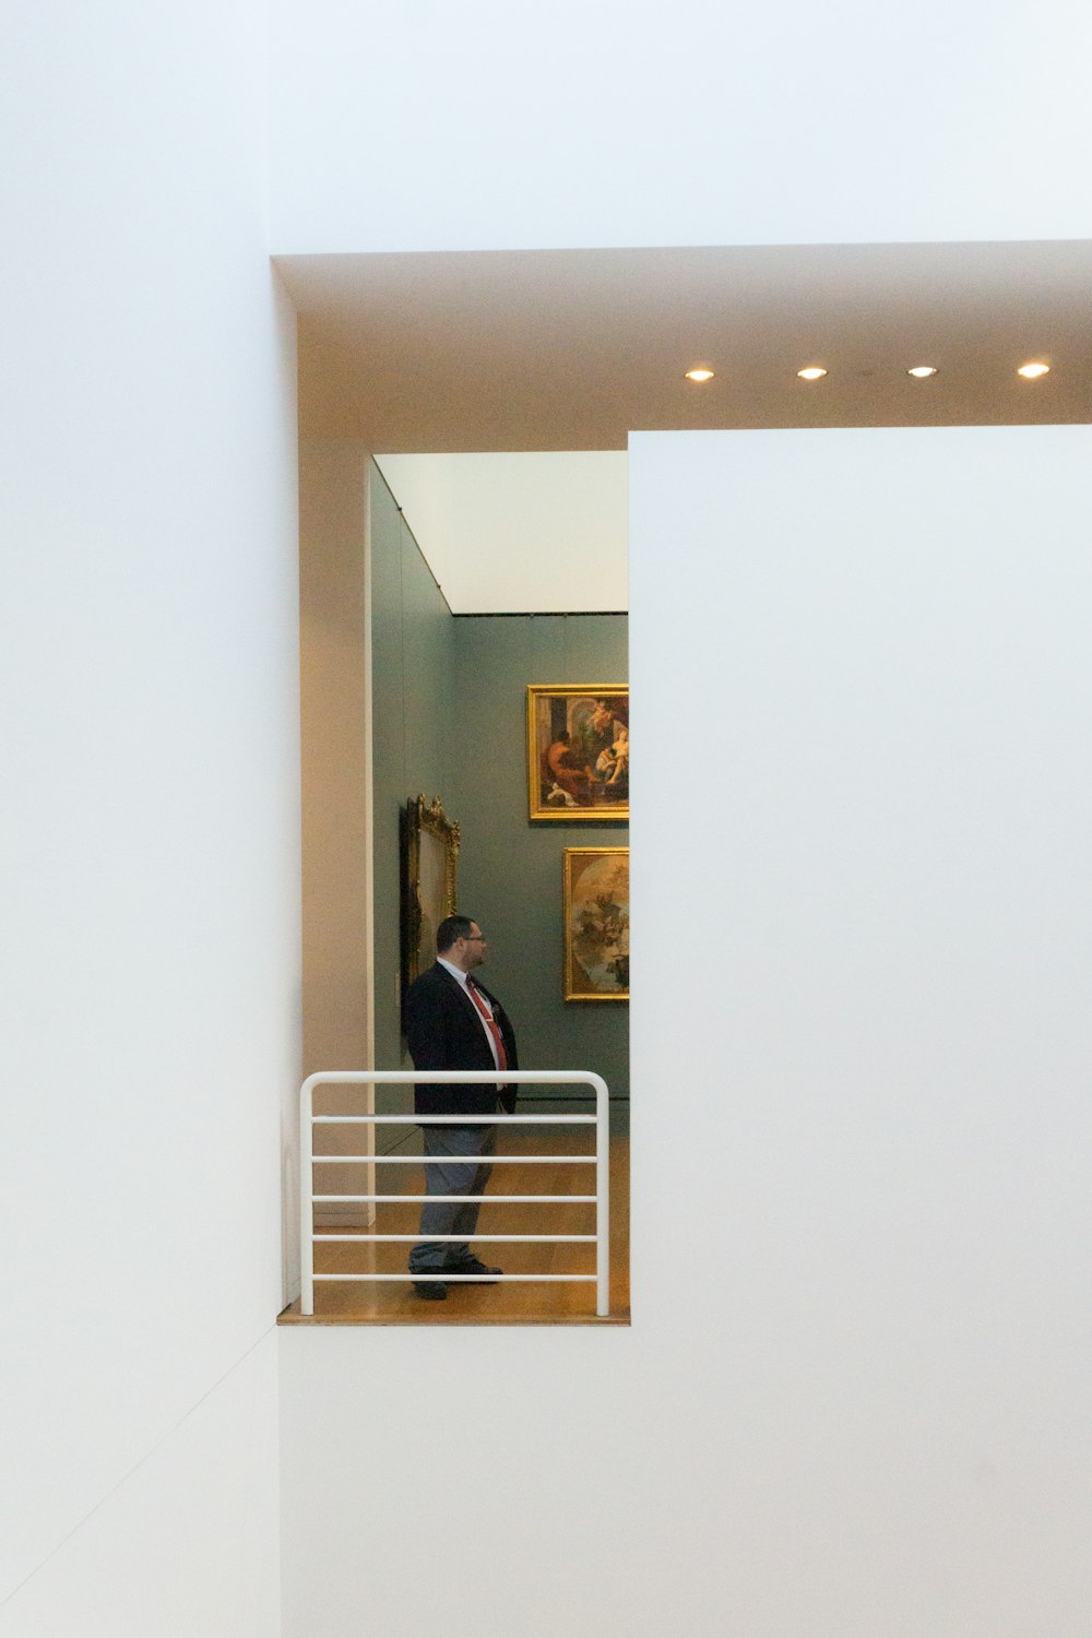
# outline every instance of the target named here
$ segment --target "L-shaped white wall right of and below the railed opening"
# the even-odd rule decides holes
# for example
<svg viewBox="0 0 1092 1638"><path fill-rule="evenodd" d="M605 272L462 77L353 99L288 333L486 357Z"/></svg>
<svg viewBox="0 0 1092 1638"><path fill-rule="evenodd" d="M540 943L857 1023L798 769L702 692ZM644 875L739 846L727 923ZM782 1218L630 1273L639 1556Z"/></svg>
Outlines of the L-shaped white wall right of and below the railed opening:
<svg viewBox="0 0 1092 1638"><path fill-rule="evenodd" d="M634 1327L282 1332L291 1638L1084 1638L1089 455L634 437Z"/></svg>

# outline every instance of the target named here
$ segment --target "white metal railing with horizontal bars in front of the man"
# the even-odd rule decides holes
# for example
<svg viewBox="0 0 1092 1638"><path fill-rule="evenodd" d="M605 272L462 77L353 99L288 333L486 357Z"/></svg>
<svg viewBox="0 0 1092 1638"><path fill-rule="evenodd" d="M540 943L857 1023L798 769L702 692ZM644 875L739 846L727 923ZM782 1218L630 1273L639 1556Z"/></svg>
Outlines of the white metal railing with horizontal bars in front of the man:
<svg viewBox="0 0 1092 1638"><path fill-rule="evenodd" d="M593 1235L580 1233L473 1233L467 1235L431 1235L429 1238L439 1240L458 1240L462 1245L467 1238L470 1240L504 1240L504 1242L537 1242L537 1243L591 1243L594 1240L596 1247L596 1271L594 1274L498 1274L496 1279L514 1279L514 1281L578 1281L596 1286L596 1314L609 1315L611 1312L611 1155L609 1155L609 1094L607 1083L599 1075L589 1075L584 1070L506 1070L504 1083L508 1086L514 1084L534 1084L534 1086L591 1086L596 1094L596 1112L594 1115L508 1115L508 1114L491 1114L491 1115L316 1115L314 1114L314 1088L316 1086L404 1086L416 1084L419 1081L429 1086L480 1086L483 1079L481 1070L321 1070L318 1075L308 1075L306 1081L300 1088L300 1273L301 1273L301 1296L300 1296L300 1312L314 1314L314 1283L316 1281L372 1281L372 1279L414 1279L411 1273L404 1274L316 1274L314 1273L314 1243L329 1240L352 1240L357 1245L370 1245L373 1242L383 1240L421 1240L419 1233L316 1233L314 1232L314 1204L334 1202L334 1201L360 1201L381 1204L383 1201L424 1204L422 1194L316 1194L314 1192L314 1171L316 1165L331 1166L352 1166L352 1165L417 1165L417 1166L439 1166L450 1165L450 1156L424 1156L424 1155L316 1155L313 1145L313 1133L316 1125L594 1125L596 1129L596 1152L594 1155L490 1155L490 1165L532 1165L532 1166L589 1166L596 1168L596 1192L594 1194L434 1194L434 1201L490 1201L496 1206L508 1204L529 1204L539 1201L542 1204L594 1204L596 1207L596 1232ZM488 1079L488 1078L486 1078ZM468 1156L470 1158L470 1156ZM486 1156L483 1156L486 1158ZM444 1274L444 1284L452 1284L453 1281L470 1281L473 1274Z"/></svg>

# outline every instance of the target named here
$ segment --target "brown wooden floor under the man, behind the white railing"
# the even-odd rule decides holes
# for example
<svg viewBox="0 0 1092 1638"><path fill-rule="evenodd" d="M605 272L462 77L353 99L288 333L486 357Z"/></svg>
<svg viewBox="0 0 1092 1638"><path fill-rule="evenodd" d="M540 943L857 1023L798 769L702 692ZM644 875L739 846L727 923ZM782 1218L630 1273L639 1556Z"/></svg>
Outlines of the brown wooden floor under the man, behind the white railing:
<svg viewBox="0 0 1092 1638"><path fill-rule="evenodd" d="M506 1155L586 1155L594 1148L591 1129L504 1132ZM419 1194L424 1168L378 1166L393 1174L380 1183L401 1194ZM396 1179L396 1181L395 1181ZM594 1166L498 1165L490 1194L594 1194ZM316 1273L404 1273L408 1242L381 1242L377 1233L417 1232L416 1204L380 1204L370 1228L319 1228L350 1233L349 1242L314 1247ZM486 1202L480 1233L594 1233L596 1209L581 1204L494 1206ZM526 1245L472 1242L472 1250L506 1274L594 1274L594 1243ZM424 1302L409 1279L316 1281L314 1315L305 1319L293 1302L282 1325L627 1325L629 1324L629 1138L611 1142L611 1315L596 1315L594 1283L499 1281L493 1286L450 1284L447 1302Z"/></svg>

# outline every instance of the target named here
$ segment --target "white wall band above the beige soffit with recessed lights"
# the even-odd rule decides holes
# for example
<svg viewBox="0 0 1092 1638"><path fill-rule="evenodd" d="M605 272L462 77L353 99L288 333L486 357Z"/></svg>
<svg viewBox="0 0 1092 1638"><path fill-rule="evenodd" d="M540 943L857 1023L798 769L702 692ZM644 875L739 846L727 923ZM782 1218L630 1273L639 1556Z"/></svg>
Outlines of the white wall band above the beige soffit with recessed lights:
<svg viewBox="0 0 1092 1638"><path fill-rule="evenodd" d="M278 252L1092 233L1079 0L277 18Z"/></svg>

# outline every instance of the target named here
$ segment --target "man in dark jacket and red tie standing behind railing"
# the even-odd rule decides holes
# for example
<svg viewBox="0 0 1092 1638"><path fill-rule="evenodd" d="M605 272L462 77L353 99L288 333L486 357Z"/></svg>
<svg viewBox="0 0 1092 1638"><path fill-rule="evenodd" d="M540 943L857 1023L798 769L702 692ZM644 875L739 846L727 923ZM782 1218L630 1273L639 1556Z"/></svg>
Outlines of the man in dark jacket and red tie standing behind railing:
<svg viewBox="0 0 1092 1638"><path fill-rule="evenodd" d="M485 984L472 978L486 957L485 934L470 916L449 916L435 932L435 965L406 991L406 1038L414 1070L490 1070L496 1076L519 1068L516 1035L504 1007ZM498 1104L511 1114L516 1088L503 1079L467 1086L419 1083L414 1107L419 1115L491 1115ZM485 1194L493 1171L496 1127L424 1125L426 1196ZM467 1243L478 1225L476 1201L426 1197L421 1242L409 1253L414 1291L427 1302L447 1297L444 1274L472 1276L490 1284L499 1268L488 1268ZM457 1240L434 1238L457 1235ZM431 1238L432 1237L432 1238ZM462 1281L460 1281L462 1283Z"/></svg>

